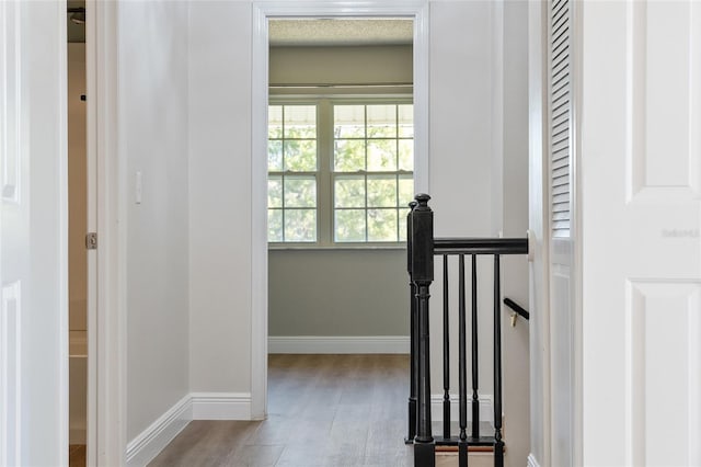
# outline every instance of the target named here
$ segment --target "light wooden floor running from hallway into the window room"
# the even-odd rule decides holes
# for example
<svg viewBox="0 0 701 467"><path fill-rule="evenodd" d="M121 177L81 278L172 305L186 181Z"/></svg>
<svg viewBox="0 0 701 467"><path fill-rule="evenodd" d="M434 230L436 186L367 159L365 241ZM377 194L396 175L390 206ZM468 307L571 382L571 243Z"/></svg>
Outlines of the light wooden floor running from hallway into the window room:
<svg viewBox="0 0 701 467"><path fill-rule="evenodd" d="M407 395L407 355L269 355L267 420L193 421L149 465L411 466Z"/></svg>

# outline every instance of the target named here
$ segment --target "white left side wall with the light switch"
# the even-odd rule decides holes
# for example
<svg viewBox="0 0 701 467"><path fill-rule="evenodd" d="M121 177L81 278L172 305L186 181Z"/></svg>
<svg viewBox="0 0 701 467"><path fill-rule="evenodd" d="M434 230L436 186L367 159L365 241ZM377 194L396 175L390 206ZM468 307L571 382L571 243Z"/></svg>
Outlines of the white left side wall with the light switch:
<svg viewBox="0 0 701 467"><path fill-rule="evenodd" d="M188 385L187 4L119 4L127 175L127 440ZM135 173L142 202L135 203Z"/></svg>

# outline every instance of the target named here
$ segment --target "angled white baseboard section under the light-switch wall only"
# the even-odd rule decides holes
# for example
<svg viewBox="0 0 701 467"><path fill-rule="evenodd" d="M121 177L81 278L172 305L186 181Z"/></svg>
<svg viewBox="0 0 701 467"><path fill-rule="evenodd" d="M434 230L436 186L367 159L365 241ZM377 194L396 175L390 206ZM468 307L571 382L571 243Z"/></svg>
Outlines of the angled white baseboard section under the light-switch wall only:
<svg viewBox="0 0 701 467"><path fill-rule="evenodd" d="M127 444L127 466L150 463L193 419L187 395Z"/></svg>

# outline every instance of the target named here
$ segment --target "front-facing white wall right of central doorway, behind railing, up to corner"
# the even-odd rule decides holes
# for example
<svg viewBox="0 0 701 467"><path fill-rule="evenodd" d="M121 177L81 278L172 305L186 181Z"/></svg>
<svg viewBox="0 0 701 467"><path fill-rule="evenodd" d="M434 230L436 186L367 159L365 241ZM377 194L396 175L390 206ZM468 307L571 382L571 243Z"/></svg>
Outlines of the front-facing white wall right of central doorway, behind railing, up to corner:
<svg viewBox="0 0 701 467"><path fill-rule="evenodd" d="M440 1L430 4L430 196L436 237L492 235L492 3ZM458 358L457 259L451 282L451 361ZM443 394L443 265L435 263L432 286L432 394ZM470 266L468 264L468 277ZM481 258L480 392L493 394L492 378L492 261ZM468 278L469 281L469 278ZM467 332L471 332L468 323ZM469 372L471 369L468 369ZM470 383L471 385L471 383ZM457 366L450 387L458 389ZM440 417L433 414L434 419Z"/></svg>

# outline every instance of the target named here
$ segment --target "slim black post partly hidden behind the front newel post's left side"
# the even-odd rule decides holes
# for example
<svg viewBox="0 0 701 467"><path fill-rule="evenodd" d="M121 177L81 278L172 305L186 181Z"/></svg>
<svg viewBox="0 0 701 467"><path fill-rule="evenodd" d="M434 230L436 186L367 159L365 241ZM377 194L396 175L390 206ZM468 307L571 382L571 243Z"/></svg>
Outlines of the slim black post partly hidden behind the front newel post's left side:
<svg viewBox="0 0 701 467"><path fill-rule="evenodd" d="M416 306L416 286L412 277L412 212L418 203L409 203L410 212L406 215L406 271L409 272L409 303L410 303L410 372L411 381L409 389L409 433L404 443L412 444L416 436L416 388L418 387L418 307Z"/></svg>

